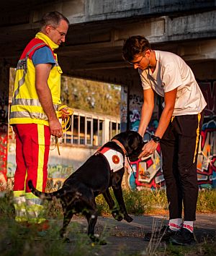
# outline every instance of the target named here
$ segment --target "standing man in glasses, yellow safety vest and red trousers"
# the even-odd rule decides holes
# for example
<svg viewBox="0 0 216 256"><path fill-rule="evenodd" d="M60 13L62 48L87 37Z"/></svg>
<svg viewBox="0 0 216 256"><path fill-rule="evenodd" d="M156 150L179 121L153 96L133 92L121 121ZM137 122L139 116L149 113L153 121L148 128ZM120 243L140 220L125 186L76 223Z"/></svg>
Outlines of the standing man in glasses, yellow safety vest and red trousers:
<svg viewBox="0 0 216 256"><path fill-rule="evenodd" d="M50 135L63 134L58 120L60 74L54 50L65 42L68 19L59 12L45 14L17 64L10 124L16 135L17 168L14 175L15 220L48 229L42 201L27 186L45 191L48 177ZM63 110L66 112L66 110Z"/></svg>

